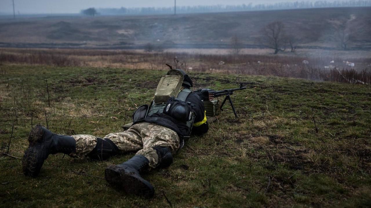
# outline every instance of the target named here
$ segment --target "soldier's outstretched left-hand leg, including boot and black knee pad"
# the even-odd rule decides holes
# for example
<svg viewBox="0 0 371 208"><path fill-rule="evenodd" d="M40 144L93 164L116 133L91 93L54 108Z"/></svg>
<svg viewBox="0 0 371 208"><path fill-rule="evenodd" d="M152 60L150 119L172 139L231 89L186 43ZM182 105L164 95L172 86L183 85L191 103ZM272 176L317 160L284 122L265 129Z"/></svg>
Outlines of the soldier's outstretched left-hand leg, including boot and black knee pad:
<svg viewBox="0 0 371 208"><path fill-rule="evenodd" d="M23 172L25 175L36 177L46 158L59 152L71 157L89 156L96 160L105 160L119 152L135 151L142 147L138 132L134 130L108 134L106 137L114 141L83 134L58 135L41 125L36 125L30 132L29 147L23 155Z"/></svg>

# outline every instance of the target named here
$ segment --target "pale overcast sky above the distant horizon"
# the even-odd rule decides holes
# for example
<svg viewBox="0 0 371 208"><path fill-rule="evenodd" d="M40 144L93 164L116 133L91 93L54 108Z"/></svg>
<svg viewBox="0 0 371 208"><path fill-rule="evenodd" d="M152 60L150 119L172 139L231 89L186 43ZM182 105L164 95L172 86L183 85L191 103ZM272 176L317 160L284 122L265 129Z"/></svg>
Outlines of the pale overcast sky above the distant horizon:
<svg viewBox="0 0 371 208"><path fill-rule="evenodd" d="M277 3L297 0L177 0L178 6L236 5L248 3ZM15 11L20 14L79 13L88 7L169 7L174 0L14 0ZM13 13L12 0L0 0L0 13Z"/></svg>

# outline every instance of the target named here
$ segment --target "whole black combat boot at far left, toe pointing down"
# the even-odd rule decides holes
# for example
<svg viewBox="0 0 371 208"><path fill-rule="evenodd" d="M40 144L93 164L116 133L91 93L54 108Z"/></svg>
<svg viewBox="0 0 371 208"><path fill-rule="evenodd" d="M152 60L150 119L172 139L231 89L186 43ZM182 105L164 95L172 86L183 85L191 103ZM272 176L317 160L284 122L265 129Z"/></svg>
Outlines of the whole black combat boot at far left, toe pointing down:
<svg viewBox="0 0 371 208"><path fill-rule="evenodd" d="M36 177L49 154L70 154L76 151L73 137L53 134L40 124L37 124L28 137L29 147L22 158L23 173Z"/></svg>

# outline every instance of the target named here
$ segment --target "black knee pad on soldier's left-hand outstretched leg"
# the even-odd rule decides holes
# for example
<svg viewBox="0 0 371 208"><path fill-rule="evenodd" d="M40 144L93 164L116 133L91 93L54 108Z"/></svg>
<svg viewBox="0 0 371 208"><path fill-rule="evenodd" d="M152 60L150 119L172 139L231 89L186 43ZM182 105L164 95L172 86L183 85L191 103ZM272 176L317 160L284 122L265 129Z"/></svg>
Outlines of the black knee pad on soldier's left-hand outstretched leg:
<svg viewBox="0 0 371 208"><path fill-rule="evenodd" d="M98 137L97 140L95 148L87 155L93 160L107 160L109 157L119 153L118 147L111 140Z"/></svg>

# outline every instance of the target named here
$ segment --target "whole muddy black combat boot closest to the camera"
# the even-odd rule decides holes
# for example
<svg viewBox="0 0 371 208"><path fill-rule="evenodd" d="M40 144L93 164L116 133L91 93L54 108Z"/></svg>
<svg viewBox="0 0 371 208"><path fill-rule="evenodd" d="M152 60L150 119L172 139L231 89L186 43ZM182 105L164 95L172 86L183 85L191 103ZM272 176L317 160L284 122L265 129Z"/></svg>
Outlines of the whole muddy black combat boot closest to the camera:
<svg viewBox="0 0 371 208"><path fill-rule="evenodd" d="M150 182L144 180L140 173L148 168L149 161L143 155L135 155L130 160L106 168L106 181L129 194L152 197L155 189Z"/></svg>

